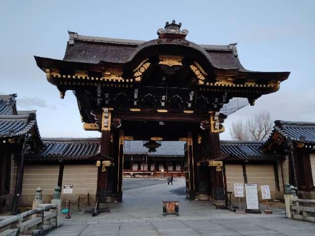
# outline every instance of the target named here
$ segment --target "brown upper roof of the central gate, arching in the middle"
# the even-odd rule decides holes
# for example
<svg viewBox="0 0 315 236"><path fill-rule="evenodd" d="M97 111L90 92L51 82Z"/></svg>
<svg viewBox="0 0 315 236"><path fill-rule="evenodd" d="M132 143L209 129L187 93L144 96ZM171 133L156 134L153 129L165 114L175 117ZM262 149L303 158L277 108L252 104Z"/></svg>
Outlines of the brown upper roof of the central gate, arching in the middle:
<svg viewBox="0 0 315 236"><path fill-rule="evenodd" d="M93 37L75 33L72 35L75 36L73 40L68 42L63 58L66 61L126 63L145 48L161 44L176 44L199 51L214 67L223 69L243 68L237 59L235 45L198 45L186 39L141 41Z"/></svg>

